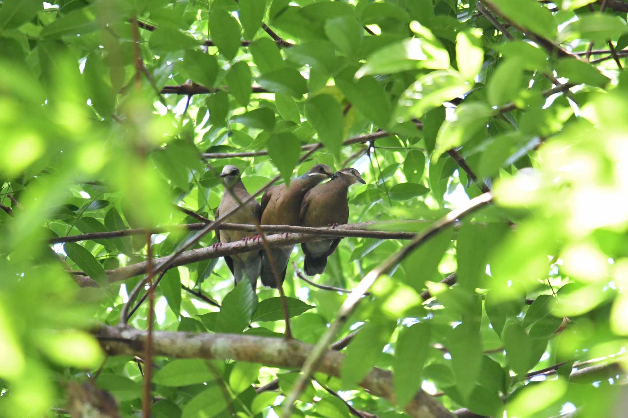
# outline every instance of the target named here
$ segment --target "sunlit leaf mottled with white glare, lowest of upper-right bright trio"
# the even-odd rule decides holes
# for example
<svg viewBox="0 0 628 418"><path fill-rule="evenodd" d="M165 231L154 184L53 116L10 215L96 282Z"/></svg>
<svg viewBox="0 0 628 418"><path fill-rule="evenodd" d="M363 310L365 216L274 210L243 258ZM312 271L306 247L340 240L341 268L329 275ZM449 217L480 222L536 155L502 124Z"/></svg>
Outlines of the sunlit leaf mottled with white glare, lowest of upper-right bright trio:
<svg viewBox="0 0 628 418"><path fill-rule="evenodd" d="M465 94L470 88L469 83L453 70L434 71L423 75L399 97L394 119L409 121L423 117L426 112Z"/></svg>

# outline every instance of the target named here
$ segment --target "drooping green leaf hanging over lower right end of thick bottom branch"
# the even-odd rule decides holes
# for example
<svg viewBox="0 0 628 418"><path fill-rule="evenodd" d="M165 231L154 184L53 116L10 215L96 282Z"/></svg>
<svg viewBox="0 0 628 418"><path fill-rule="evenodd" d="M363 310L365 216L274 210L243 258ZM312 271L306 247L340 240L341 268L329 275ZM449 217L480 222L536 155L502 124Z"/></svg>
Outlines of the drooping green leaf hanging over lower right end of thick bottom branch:
<svg viewBox="0 0 628 418"><path fill-rule="evenodd" d="M430 326L416 323L399 333L395 349L394 390L400 407L418 392L423 382L423 365L430 348Z"/></svg>

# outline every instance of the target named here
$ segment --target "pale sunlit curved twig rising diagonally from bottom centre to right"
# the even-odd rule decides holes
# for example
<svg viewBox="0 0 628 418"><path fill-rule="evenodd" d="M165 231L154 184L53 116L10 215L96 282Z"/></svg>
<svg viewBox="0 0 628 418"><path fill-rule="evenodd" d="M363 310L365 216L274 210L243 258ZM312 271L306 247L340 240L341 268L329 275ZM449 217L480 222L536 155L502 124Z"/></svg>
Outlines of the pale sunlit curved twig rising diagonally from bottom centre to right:
<svg viewBox="0 0 628 418"><path fill-rule="evenodd" d="M287 395L286 400L283 402L283 409L281 414L282 417L290 417L296 399L305 389L305 384L310 378L313 370L315 370L315 367L317 366L320 358L322 358L322 356L324 355L325 350L327 349L327 345L333 339L333 336L336 335L338 330L340 330L342 324L345 323L350 314L355 310L355 307L359 303L362 296L365 294L365 292L369 290L369 288L374 284L377 278L379 278L379 276L381 276L382 274L386 274L387 272L391 271L391 269L393 269L395 265L398 265L414 249L422 245L429 238L433 237L441 230L447 228L458 218L462 218L465 215L468 215L468 213L474 212L475 210L490 203L490 201L492 201L492 195L490 193L484 193L470 200L468 204L462 209L452 210L452 212L445 215L445 217L435 222L431 228L428 228L427 230L425 230L425 232L417 235L417 237L414 238L409 245L403 247L403 249L401 249L396 254L391 255L391 257L386 259L382 264L377 266L375 269L372 269L366 276L364 276L364 278L359 282L357 287L355 287L354 291L349 294L342 306L340 306L340 310L338 311L338 319L336 319L330 325L327 331L325 331L325 333L321 336L320 340L318 340L317 345L311 351L305 363L303 363L300 377L296 380L295 385L290 391L290 394Z"/></svg>

